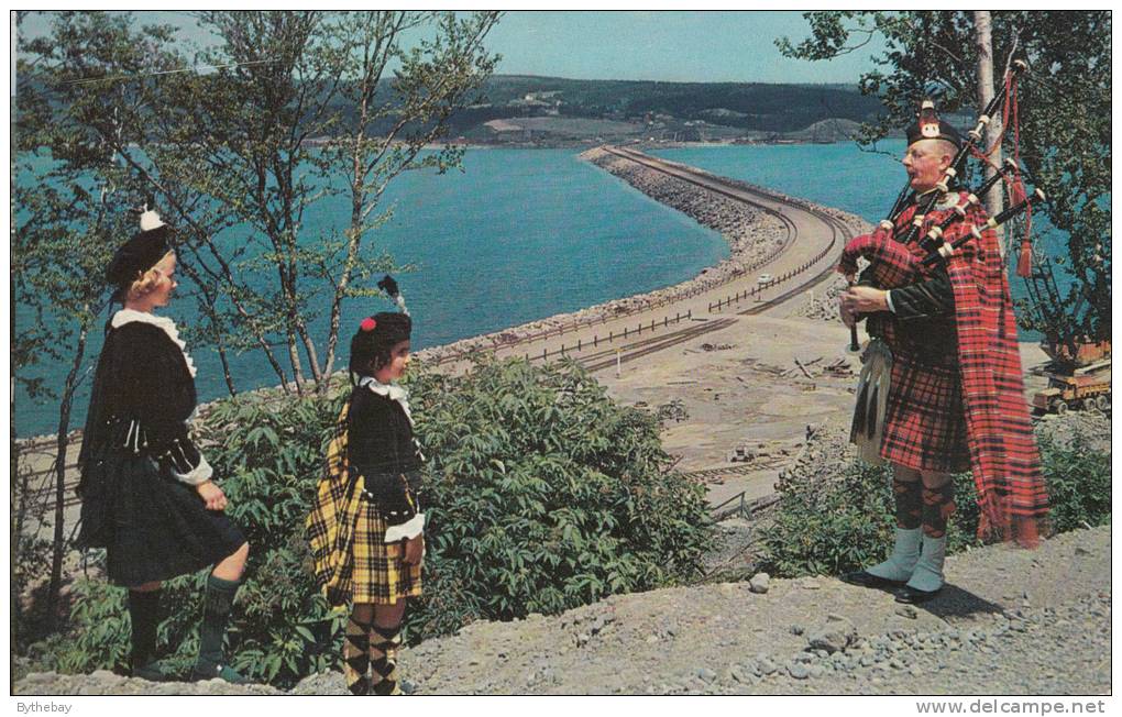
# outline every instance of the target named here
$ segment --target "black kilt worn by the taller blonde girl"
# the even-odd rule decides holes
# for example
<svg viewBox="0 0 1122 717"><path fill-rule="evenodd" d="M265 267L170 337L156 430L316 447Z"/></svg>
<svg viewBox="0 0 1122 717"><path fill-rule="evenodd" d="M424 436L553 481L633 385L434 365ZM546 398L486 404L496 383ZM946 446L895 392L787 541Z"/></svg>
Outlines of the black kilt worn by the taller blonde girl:
<svg viewBox="0 0 1122 717"><path fill-rule="evenodd" d="M147 456L109 450L90 466L79 544L105 549L118 585L195 572L246 542L226 513L208 511L194 487L162 476Z"/></svg>

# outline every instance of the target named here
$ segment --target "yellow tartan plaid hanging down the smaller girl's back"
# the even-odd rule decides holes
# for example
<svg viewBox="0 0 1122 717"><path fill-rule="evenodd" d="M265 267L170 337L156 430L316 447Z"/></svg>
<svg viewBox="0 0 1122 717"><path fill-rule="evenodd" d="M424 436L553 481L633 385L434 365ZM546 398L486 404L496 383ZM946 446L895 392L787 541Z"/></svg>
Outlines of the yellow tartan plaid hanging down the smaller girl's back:
<svg viewBox="0 0 1122 717"><path fill-rule="evenodd" d="M305 526L312 544L315 581L332 606L347 605L353 591L355 526L364 509L358 472L347 461L347 412L335 422L335 433L328 443L323 476L316 488L312 512Z"/></svg>

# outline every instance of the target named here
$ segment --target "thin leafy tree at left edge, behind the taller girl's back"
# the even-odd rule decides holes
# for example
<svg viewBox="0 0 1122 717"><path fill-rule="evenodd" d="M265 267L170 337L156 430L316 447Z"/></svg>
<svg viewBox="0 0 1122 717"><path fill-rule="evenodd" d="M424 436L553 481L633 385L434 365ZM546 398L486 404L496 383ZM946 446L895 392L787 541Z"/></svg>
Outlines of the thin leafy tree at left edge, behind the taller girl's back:
<svg viewBox="0 0 1122 717"><path fill-rule="evenodd" d="M89 373L90 332L107 305L105 266L113 248L136 231L127 211L136 195L128 191L130 177L113 145L135 140L134 120L147 101L142 91L121 84L90 92L85 82L158 65L158 46L168 37L167 28L138 36L125 17L63 12L49 37L26 44L17 65L12 174L22 178L15 182L12 197L11 276L24 319L17 318L12 331L13 376L33 399L58 402L50 619L66 546L63 506L73 402ZM45 359L66 366L65 376L30 376Z"/></svg>

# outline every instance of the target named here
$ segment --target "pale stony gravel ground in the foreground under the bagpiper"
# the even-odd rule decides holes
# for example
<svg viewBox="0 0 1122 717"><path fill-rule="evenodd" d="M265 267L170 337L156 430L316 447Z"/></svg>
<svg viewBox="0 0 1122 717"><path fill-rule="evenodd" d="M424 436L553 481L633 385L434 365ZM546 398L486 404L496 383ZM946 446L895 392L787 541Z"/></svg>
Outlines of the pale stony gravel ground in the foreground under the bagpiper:
<svg viewBox="0 0 1122 717"><path fill-rule="evenodd" d="M1106 526L1038 551L953 555L945 594L919 608L821 577L614 596L554 617L473 624L404 650L402 665L419 695L1103 693L1110 553ZM107 672L33 674L15 691L275 693ZM339 673L293 690L342 692Z"/></svg>

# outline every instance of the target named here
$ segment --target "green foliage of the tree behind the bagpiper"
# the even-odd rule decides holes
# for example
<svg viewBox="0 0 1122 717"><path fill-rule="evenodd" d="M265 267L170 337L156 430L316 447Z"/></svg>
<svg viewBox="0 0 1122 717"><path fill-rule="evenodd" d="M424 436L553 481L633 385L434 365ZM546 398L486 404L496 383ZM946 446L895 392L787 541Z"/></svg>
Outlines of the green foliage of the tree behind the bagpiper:
<svg viewBox="0 0 1122 717"><path fill-rule="evenodd" d="M1019 157L1048 193L1043 211L1067 235L1067 257L1056 259L1073 279L1049 304L1023 305L1027 329L1101 340L1111 334L1111 13L1110 11L992 12L993 56L1029 63L1018 89ZM856 52L873 36L885 49L859 80L885 112L863 126L871 145L912 120L918 100L944 111L977 112L974 15L969 11L807 12L811 35L798 45L776 40L790 57L830 59ZM999 65L999 70L1003 65ZM1000 73L994 73L1000 74ZM1012 131L1004 149L1015 149Z"/></svg>

